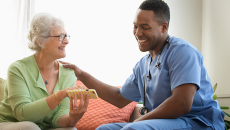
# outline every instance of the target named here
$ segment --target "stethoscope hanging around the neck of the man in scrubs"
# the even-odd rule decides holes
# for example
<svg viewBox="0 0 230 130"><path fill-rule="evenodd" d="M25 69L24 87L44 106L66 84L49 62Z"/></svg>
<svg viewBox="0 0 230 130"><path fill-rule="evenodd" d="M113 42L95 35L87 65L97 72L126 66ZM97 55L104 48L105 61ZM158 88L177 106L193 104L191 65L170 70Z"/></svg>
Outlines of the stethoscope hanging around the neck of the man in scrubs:
<svg viewBox="0 0 230 130"><path fill-rule="evenodd" d="M159 55L157 57L157 63L155 65L156 68L161 67L163 65L162 63L159 62L159 59L160 59L161 53L162 53L162 51L164 49L164 46L166 44L168 44L167 50L169 49L169 46L170 46L169 38L170 38L170 36L168 36L167 40L164 42L163 46L160 49ZM148 63L149 57L150 57L150 54L149 54L149 56L148 56L148 58L146 60L145 69L147 68L147 63ZM146 76L146 70L145 70L145 76ZM143 91L143 93L144 93L143 107L141 107L140 110L139 110L139 112L140 112L141 115L145 115L145 114L148 113L148 109L147 109L147 107L145 107L145 97L146 97L145 76L144 76L144 91ZM149 75L146 76L146 77L147 77L147 84L148 84L148 79L151 79L150 71L149 71Z"/></svg>

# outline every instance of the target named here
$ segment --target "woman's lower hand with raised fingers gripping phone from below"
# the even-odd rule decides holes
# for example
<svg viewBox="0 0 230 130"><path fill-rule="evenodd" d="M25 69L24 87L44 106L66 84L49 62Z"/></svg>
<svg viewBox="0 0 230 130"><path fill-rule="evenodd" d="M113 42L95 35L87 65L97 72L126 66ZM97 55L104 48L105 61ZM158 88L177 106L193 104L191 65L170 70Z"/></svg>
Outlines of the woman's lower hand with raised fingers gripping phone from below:
<svg viewBox="0 0 230 130"><path fill-rule="evenodd" d="M87 111L87 107L89 104L89 95L87 94L85 96L85 99L83 98L83 94L80 94L80 104L77 106L77 95L74 95L74 99L72 97L69 97L70 100L70 111L69 111L69 121L70 126L75 126L76 123L82 118L84 113Z"/></svg>

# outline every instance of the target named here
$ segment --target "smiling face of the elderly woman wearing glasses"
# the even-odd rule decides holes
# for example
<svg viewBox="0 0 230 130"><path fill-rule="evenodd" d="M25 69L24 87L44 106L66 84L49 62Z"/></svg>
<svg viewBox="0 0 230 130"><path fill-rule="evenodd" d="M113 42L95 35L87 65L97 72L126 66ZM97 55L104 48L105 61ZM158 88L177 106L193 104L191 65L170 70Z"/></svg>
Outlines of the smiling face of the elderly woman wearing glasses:
<svg viewBox="0 0 230 130"><path fill-rule="evenodd" d="M57 27L52 30L50 36L60 36L65 35L66 31L64 28ZM42 48L41 51L43 54L47 55L50 58L60 59L66 56L65 47L69 43L69 40L65 37L63 41L59 40L59 37L50 37L48 41L45 42L45 48Z"/></svg>

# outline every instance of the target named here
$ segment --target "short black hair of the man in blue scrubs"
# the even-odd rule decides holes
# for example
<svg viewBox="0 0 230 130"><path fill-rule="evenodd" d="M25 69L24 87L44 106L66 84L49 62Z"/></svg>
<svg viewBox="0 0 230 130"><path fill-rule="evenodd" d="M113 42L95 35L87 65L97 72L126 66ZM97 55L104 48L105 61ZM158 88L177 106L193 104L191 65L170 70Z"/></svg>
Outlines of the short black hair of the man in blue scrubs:
<svg viewBox="0 0 230 130"><path fill-rule="evenodd" d="M154 12L155 18L159 25L163 22L169 24L170 21L170 10L168 5L162 0L145 0L139 6L141 10L151 10Z"/></svg>

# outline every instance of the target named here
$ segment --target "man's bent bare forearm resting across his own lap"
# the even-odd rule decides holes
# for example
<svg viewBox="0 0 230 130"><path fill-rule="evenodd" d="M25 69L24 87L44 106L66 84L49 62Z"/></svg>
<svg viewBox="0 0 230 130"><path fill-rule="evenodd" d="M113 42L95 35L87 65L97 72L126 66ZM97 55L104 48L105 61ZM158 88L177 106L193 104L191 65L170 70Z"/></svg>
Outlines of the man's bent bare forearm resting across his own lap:
<svg viewBox="0 0 230 130"><path fill-rule="evenodd" d="M197 91L195 84L183 84L172 91L172 96L151 112L134 122L148 119L176 119L190 112Z"/></svg>

